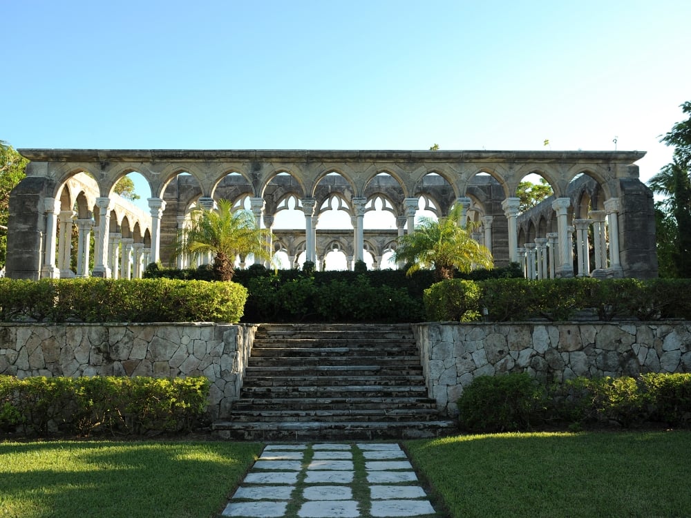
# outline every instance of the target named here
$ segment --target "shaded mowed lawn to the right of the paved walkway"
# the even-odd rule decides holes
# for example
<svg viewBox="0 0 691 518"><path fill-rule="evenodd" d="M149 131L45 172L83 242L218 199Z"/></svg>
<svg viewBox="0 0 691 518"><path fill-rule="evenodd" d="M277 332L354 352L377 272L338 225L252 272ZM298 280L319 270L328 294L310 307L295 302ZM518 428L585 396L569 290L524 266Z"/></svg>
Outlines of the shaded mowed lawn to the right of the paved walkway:
<svg viewBox="0 0 691 518"><path fill-rule="evenodd" d="M689 431L468 435L406 449L454 518L691 516Z"/></svg>

